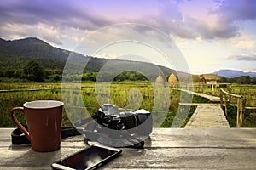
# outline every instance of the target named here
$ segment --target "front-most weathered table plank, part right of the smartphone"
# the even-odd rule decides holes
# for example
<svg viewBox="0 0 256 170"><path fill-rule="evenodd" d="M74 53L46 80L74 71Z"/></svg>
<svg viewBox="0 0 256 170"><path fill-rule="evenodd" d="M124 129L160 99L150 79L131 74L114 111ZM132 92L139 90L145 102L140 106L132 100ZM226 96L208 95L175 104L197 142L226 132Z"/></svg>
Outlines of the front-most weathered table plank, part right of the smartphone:
<svg viewBox="0 0 256 170"><path fill-rule="evenodd" d="M225 148L125 149L119 161L110 162L104 169L254 169L254 152Z"/></svg>

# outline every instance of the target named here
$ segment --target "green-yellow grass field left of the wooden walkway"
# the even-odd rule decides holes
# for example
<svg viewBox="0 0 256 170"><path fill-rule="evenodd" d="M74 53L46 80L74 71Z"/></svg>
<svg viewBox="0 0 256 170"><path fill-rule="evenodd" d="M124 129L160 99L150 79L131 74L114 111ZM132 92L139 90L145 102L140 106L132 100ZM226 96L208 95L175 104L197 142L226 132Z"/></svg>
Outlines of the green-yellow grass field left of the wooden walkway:
<svg viewBox="0 0 256 170"><path fill-rule="evenodd" d="M86 109L90 115L93 115L100 107L96 99L95 94L95 82L83 82L81 84L82 100ZM102 83L104 87L104 83ZM0 83L0 127L15 127L15 123L10 120L9 112L15 106L22 106L27 101L39 100L39 99L54 99L63 100L61 95L61 83ZM79 100L76 97L76 92L73 92L72 99ZM171 99L162 99L163 97L159 94L154 94L154 87L151 82L113 82L110 86L110 100L109 103L117 105L118 107L130 108L143 108L151 111L154 117L154 127L170 127L173 122L173 118L177 114L178 102L182 98L187 96L181 96L177 90L171 90ZM131 101L135 102L129 102ZM154 100L160 100L157 104L154 104ZM170 105L169 102L171 101ZM106 103L106 101L105 101ZM131 103L133 105L131 105ZM128 105L128 106L127 106ZM155 108L167 108L167 116L162 113L159 109L155 111ZM26 123L25 116L23 113L17 111L15 114L20 122ZM184 114L187 116L186 114ZM165 117L166 116L166 119ZM158 122L163 120L164 122ZM183 124L186 117L180 117L179 122ZM179 123L178 123L179 124ZM72 124L67 117L67 113L64 111L63 115L63 127L71 127Z"/></svg>

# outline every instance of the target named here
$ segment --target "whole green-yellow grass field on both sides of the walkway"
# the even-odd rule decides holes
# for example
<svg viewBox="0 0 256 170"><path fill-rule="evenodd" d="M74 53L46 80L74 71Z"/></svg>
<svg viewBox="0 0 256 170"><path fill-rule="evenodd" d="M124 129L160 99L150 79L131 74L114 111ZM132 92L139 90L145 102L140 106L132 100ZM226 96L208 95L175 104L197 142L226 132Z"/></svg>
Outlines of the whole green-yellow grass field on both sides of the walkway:
<svg viewBox="0 0 256 170"><path fill-rule="evenodd" d="M98 100L96 99L95 85L95 82L83 82L81 84L82 100L86 109L90 112L90 115L93 115L100 107ZM227 88L224 89L228 90ZM26 101L38 99L63 100L61 95L61 83L0 83L0 90L0 127L15 127L15 124L10 120L9 111L15 106L22 106ZM195 111L195 107L178 107L178 103L183 100L183 98L189 99L192 96L189 96L189 94L181 94L180 91L175 89L170 89L171 105L169 105L169 111L164 115L166 117L164 121L158 122L157 120L162 120L163 115L161 115L160 112L156 113L154 111L154 107L156 107L156 105L154 105L154 100L161 99L161 96L155 96L154 87L150 82L113 82L109 90L111 99L108 100L108 102L119 107L127 107L128 105L131 108L140 107L151 111L154 115L154 120L156 120L154 121L154 127L184 127L186 122L189 120L189 117ZM204 92L212 94L212 88L205 88ZM236 92L237 94L240 93L245 96L247 99L247 105L256 106L256 86L233 85L232 93ZM136 101L133 102L134 105L129 105L131 103L129 102L129 95L133 96L131 99L132 101ZM218 88L215 89L215 95L218 96ZM208 101L207 99L194 96L193 102L206 103ZM160 102L158 105L159 107L165 107L165 105L168 105L168 102ZM15 115L21 123L26 123L25 117L22 113L17 112ZM250 111L247 111L247 117L246 119L255 119L253 118L253 112ZM173 122L174 119L175 122ZM72 126L65 111L62 121L63 127ZM256 120L254 122L256 122ZM247 127L256 127L254 122L247 123Z"/></svg>

